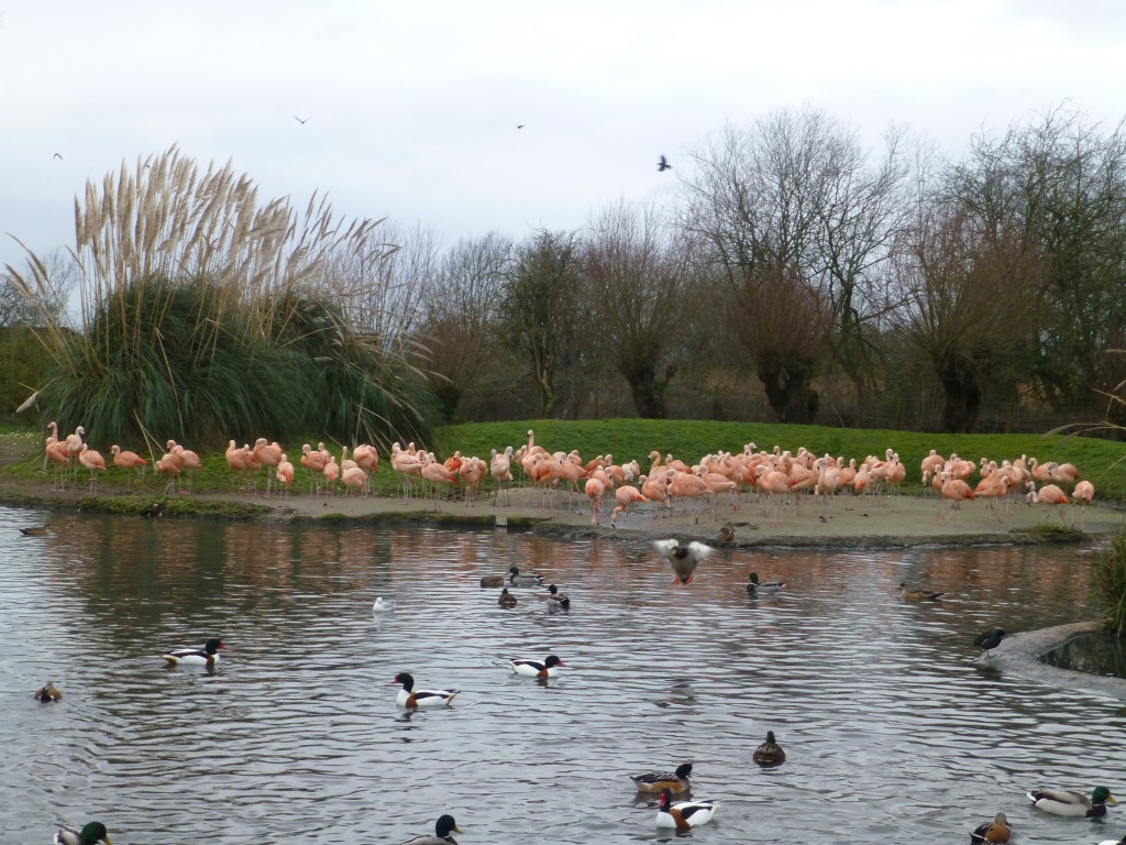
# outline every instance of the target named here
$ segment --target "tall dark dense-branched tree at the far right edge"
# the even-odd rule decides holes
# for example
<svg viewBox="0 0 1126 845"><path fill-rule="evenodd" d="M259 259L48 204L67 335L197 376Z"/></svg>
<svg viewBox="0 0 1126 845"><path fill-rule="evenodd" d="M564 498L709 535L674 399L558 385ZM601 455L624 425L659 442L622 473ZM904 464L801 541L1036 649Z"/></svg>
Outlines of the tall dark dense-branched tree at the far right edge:
<svg viewBox="0 0 1126 845"><path fill-rule="evenodd" d="M1040 257L1045 308L1026 326L1036 397L1056 410L1097 407L1115 383L1101 375L1107 350L1126 337L1126 124L1049 109L974 137L945 187L978 226L1016 233Z"/></svg>

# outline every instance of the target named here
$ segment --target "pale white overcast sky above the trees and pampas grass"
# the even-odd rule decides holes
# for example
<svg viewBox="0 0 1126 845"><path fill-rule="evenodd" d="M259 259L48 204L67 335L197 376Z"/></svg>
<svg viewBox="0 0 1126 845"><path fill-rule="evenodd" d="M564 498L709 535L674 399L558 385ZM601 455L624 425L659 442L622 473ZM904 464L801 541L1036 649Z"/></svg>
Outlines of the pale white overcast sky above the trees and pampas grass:
<svg viewBox="0 0 1126 845"><path fill-rule="evenodd" d="M957 154L1065 99L1126 114L1126 2L0 0L0 267L172 144L263 203L522 239L670 201L708 135L780 108Z"/></svg>

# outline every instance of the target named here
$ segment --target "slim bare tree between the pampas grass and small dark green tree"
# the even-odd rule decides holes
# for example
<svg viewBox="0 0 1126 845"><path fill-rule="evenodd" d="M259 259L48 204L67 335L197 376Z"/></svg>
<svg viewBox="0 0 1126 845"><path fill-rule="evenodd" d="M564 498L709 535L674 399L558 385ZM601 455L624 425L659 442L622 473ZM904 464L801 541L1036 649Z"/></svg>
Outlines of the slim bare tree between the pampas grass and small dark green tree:
<svg viewBox="0 0 1126 845"><path fill-rule="evenodd" d="M512 243L490 233L461 240L427 286L423 343L430 390L446 419L457 419L462 395L495 372L498 312Z"/></svg>

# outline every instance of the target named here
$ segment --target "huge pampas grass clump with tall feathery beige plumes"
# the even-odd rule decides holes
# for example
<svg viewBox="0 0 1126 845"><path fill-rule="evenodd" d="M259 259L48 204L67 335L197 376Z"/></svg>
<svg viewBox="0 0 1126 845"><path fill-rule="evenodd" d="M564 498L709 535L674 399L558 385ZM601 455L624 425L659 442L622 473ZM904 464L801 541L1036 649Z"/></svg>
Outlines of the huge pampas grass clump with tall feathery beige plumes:
<svg viewBox="0 0 1126 845"><path fill-rule="evenodd" d="M369 221L259 205L227 163L204 174L175 146L124 163L75 199L77 330L53 319L42 265L8 276L42 310L52 366L44 418L95 443L227 438L310 430L386 443L421 439L429 398L406 362L355 330L329 254L363 249ZM72 420L72 422L65 422Z"/></svg>

